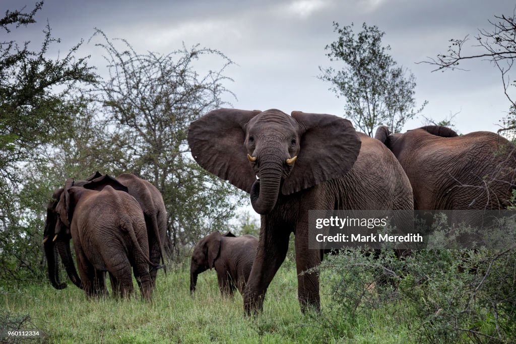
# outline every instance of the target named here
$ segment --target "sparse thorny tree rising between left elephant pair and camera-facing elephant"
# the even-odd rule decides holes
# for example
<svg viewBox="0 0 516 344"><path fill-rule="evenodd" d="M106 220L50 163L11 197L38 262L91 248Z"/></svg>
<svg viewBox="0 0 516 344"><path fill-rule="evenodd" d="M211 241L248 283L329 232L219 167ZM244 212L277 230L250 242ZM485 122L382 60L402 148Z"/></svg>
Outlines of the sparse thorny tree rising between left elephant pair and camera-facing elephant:
<svg viewBox="0 0 516 344"><path fill-rule="evenodd" d="M86 111L104 118L104 145L116 152L117 159L106 168L114 174L134 173L162 193L169 217L165 248L169 256L177 256L203 234L227 227L241 199L235 188L193 161L186 143L190 122L222 106L223 96L233 95L224 86L231 79L223 74L233 62L199 45L183 45L165 55L140 54L126 40L109 40L101 30L94 36L101 39L96 45L104 51L108 77L89 90ZM218 59L222 65L201 74L201 58Z"/></svg>

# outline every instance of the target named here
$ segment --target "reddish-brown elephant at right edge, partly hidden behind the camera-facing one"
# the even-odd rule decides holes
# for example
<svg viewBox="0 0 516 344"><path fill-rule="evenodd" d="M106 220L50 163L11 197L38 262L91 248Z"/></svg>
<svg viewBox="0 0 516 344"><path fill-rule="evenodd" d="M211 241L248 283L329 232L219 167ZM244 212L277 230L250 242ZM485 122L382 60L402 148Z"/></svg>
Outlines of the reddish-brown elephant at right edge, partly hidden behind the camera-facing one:
<svg viewBox="0 0 516 344"><path fill-rule="evenodd" d="M506 209L515 188L515 146L500 135L458 135L441 126L375 138L396 156L414 192L416 210Z"/></svg>

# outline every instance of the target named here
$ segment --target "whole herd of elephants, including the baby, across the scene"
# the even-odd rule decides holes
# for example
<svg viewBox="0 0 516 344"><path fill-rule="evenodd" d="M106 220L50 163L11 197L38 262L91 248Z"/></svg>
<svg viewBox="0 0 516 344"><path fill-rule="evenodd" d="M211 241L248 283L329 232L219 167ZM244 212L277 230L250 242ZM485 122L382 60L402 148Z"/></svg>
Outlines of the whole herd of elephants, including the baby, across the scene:
<svg viewBox="0 0 516 344"><path fill-rule="evenodd" d="M261 214L259 239L216 231L197 243L190 291L199 273L215 268L221 293L237 288L247 314L263 309L292 232L301 309L319 309L318 274L301 274L324 253L309 249L309 210L504 209L515 189L515 147L490 132L457 135L429 126L391 134L380 127L370 138L332 115L221 108L190 124L188 144L200 166L249 193ZM53 198L44 233L52 285L66 286L58 253L87 295L106 292L106 271L115 295L131 293L132 267L150 299L157 269L164 267L166 231L156 188L134 175L97 173L67 180Z"/></svg>

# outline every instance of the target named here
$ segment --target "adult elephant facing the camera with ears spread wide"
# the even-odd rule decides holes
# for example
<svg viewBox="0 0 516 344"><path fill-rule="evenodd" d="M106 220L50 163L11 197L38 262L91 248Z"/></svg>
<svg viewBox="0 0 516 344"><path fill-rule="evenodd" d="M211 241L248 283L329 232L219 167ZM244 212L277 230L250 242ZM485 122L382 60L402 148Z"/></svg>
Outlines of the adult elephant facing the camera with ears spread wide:
<svg viewBox="0 0 516 344"><path fill-rule="evenodd" d="M262 215L244 293L248 314L262 310L291 232L301 308L319 309L318 274L300 274L322 257L308 248L309 210L413 207L410 183L394 155L340 117L219 109L190 124L188 144L202 167L250 193Z"/></svg>

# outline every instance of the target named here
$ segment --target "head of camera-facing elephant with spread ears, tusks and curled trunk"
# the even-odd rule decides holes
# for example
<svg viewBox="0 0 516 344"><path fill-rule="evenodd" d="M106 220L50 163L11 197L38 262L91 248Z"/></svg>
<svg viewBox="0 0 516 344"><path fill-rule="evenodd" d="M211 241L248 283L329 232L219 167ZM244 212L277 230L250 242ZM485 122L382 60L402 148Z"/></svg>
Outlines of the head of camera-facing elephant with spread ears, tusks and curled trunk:
<svg viewBox="0 0 516 344"><path fill-rule="evenodd" d="M340 117L224 108L192 122L188 144L199 165L250 193L259 214L272 211L280 193L346 174L361 146Z"/></svg>

